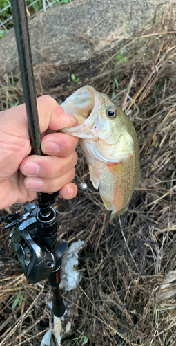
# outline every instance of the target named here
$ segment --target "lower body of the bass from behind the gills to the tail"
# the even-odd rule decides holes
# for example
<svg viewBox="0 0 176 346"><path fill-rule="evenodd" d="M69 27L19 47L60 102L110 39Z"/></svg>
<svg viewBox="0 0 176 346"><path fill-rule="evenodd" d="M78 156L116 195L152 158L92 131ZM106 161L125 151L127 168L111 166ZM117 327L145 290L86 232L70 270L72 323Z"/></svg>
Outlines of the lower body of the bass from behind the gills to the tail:
<svg viewBox="0 0 176 346"><path fill-rule="evenodd" d="M123 215L128 210L133 190L139 180L135 157L131 156L122 163L108 165L95 161L86 154L86 161L90 170L90 179L94 187L99 188L104 206L112 210L110 220L117 215Z"/></svg>

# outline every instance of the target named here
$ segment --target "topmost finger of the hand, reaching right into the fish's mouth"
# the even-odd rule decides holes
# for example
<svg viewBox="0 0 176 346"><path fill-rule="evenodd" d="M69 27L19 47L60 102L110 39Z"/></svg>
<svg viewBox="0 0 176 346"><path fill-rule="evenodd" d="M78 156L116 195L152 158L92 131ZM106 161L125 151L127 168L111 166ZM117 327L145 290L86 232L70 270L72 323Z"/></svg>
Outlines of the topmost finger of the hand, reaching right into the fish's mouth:
<svg viewBox="0 0 176 346"><path fill-rule="evenodd" d="M73 127L77 124L75 117L64 111L51 96L43 95L37 98L37 109L41 134L46 129L58 131L64 127Z"/></svg>

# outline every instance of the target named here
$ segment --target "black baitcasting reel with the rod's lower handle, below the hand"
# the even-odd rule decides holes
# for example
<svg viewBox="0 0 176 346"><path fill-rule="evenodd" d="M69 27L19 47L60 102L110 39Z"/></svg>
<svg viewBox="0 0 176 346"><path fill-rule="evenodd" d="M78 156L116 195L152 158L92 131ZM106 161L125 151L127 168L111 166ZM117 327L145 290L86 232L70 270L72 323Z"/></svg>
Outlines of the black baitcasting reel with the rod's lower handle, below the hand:
<svg viewBox="0 0 176 346"><path fill-rule="evenodd" d="M50 206L58 192L49 196L48 213L42 213L35 203L25 206L25 214L15 212L1 217L1 222L9 223L5 228L11 227L10 234L12 256L21 265L26 279L30 283L48 279L53 291L53 313L57 317L63 316L65 306L59 291L61 282L61 257L68 248L65 242L55 247L57 242L56 212ZM43 205L42 205L43 207Z"/></svg>

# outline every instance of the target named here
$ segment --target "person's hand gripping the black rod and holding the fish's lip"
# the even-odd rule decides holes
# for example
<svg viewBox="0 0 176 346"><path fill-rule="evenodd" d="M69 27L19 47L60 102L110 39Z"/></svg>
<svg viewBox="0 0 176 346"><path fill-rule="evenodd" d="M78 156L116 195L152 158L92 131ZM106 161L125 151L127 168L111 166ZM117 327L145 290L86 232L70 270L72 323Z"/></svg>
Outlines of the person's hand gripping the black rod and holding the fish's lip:
<svg viewBox="0 0 176 346"><path fill-rule="evenodd" d="M75 176L75 147L79 138L57 132L76 125L76 120L48 95L37 99L37 109L41 151L47 156L30 155L25 104L0 113L0 209L32 201L37 192L59 190L64 199L77 194L77 186L71 181Z"/></svg>

